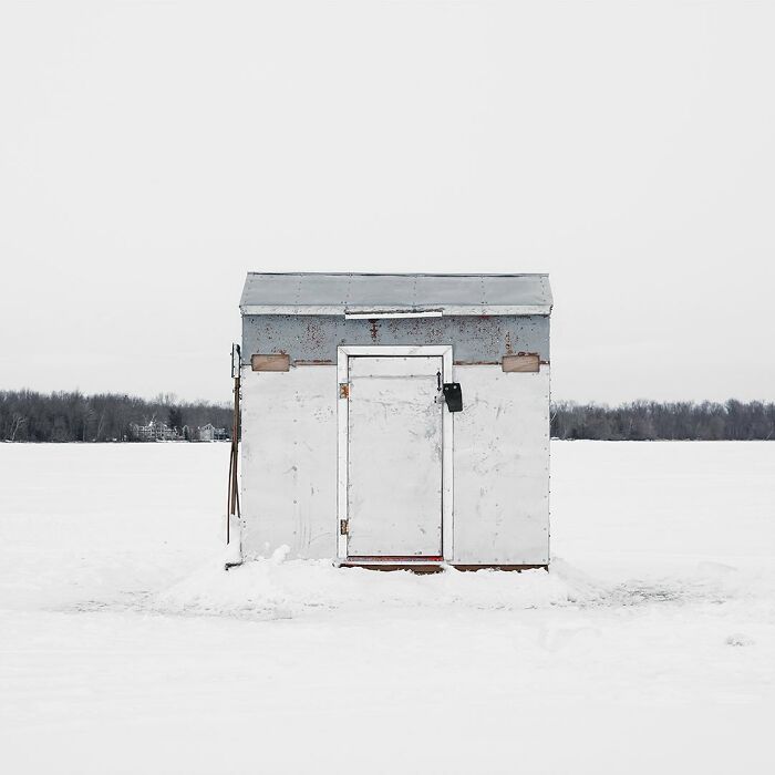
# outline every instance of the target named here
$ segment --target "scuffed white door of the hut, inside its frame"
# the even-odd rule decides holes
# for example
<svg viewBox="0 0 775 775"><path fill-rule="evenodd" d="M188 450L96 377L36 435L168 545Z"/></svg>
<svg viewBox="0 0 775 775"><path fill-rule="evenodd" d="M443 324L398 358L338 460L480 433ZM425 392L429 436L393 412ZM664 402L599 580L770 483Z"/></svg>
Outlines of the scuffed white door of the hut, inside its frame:
<svg viewBox="0 0 775 775"><path fill-rule="evenodd" d="M440 356L348 359L348 555L442 555Z"/></svg>

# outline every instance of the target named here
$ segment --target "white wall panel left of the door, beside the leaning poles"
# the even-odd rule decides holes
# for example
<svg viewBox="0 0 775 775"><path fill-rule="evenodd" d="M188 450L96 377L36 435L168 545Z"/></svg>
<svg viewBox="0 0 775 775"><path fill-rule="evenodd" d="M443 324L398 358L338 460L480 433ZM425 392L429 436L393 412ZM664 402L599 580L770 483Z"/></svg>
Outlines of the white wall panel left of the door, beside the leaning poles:
<svg viewBox="0 0 775 775"><path fill-rule="evenodd" d="M337 552L337 368L242 370L242 552Z"/></svg>

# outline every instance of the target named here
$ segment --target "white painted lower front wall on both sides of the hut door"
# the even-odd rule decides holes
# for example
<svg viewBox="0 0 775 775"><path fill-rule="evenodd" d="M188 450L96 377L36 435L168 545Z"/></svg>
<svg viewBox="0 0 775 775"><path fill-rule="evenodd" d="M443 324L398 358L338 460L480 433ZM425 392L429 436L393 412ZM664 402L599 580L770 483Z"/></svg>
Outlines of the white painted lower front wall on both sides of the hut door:
<svg viewBox="0 0 775 775"><path fill-rule="evenodd" d="M453 557L462 565L549 560L549 368L456 365ZM242 370L242 554L337 557L333 365ZM446 411L446 410L445 410ZM446 540L446 539L445 539Z"/></svg>

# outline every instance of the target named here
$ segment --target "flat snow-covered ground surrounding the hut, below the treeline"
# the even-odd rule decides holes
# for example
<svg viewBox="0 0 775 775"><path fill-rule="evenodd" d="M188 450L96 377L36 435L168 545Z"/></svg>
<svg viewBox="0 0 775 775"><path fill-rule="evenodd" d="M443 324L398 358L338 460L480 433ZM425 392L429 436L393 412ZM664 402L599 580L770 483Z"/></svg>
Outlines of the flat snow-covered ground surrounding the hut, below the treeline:
<svg viewBox="0 0 775 775"><path fill-rule="evenodd" d="M225 572L227 466L0 444L0 772L775 772L775 444L554 443L550 574Z"/></svg>

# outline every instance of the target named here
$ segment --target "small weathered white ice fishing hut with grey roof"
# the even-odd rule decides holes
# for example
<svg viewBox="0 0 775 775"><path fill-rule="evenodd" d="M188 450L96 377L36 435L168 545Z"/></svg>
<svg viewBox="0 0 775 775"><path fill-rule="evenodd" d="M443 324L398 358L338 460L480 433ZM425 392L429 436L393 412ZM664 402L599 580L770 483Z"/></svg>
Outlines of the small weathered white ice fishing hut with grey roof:
<svg viewBox="0 0 775 775"><path fill-rule="evenodd" d="M549 562L546 275L249 273L244 559Z"/></svg>

